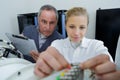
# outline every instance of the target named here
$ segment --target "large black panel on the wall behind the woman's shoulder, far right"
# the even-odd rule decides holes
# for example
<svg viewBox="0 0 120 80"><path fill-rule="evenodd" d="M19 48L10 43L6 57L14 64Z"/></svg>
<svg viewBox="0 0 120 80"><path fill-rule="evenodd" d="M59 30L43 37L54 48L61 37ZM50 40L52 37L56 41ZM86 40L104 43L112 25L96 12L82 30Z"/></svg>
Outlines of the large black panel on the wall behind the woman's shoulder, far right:
<svg viewBox="0 0 120 80"><path fill-rule="evenodd" d="M95 38L102 40L113 60L120 35L120 8L98 9L96 11Z"/></svg>

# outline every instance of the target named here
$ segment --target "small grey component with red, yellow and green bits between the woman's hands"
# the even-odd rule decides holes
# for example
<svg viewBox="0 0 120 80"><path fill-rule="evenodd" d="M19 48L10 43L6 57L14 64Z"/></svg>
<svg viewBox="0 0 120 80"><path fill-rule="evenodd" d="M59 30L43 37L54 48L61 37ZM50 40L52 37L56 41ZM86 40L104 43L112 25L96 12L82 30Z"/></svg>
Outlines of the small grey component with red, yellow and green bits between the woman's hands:
<svg viewBox="0 0 120 80"><path fill-rule="evenodd" d="M78 64L72 64L67 67L67 71L66 69L63 70L56 80L83 80L83 74L83 70L80 69Z"/></svg>

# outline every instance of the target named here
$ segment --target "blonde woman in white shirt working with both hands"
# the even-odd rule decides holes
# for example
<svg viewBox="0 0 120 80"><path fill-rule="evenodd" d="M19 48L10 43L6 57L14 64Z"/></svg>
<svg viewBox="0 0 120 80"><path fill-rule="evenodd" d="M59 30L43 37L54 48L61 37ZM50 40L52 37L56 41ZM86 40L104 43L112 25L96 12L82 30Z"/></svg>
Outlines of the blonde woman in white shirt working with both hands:
<svg viewBox="0 0 120 80"><path fill-rule="evenodd" d="M97 78L111 80L103 78L103 76L106 73L114 72L115 64L112 63L112 57L102 41L85 37L88 23L86 9L74 7L68 10L66 13L68 37L53 41L51 46L40 54L36 63L35 74L45 77L51 74L53 70L64 69L71 63L81 63L82 69L92 70Z"/></svg>

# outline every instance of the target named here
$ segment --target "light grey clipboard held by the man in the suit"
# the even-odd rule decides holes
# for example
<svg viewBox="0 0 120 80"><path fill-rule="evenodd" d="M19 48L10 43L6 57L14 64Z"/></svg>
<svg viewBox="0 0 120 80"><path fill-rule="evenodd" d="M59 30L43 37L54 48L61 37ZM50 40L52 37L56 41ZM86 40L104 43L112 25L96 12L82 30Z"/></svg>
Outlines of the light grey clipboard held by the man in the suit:
<svg viewBox="0 0 120 80"><path fill-rule="evenodd" d="M24 55L30 56L29 52L31 50L37 51L37 47L33 39L28 39L24 36L11 33L6 33L6 36L12 42L12 44Z"/></svg>

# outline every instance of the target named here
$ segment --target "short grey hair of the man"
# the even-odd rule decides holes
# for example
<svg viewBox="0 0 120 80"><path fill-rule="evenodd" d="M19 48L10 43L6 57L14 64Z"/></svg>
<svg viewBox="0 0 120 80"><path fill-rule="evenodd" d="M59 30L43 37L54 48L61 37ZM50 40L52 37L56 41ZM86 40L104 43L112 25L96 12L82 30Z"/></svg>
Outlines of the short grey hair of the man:
<svg viewBox="0 0 120 80"><path fill-rule="evenodd" d="M48 5L48 4L47 5L43 5L40 8L39 12L38 12L38 17L41 15L41 12L43 10L54 11L55 14L56 14L56 19L58 20L58 11L57 11L57 9L55 7L53 7L52 5Z"/></svg>

